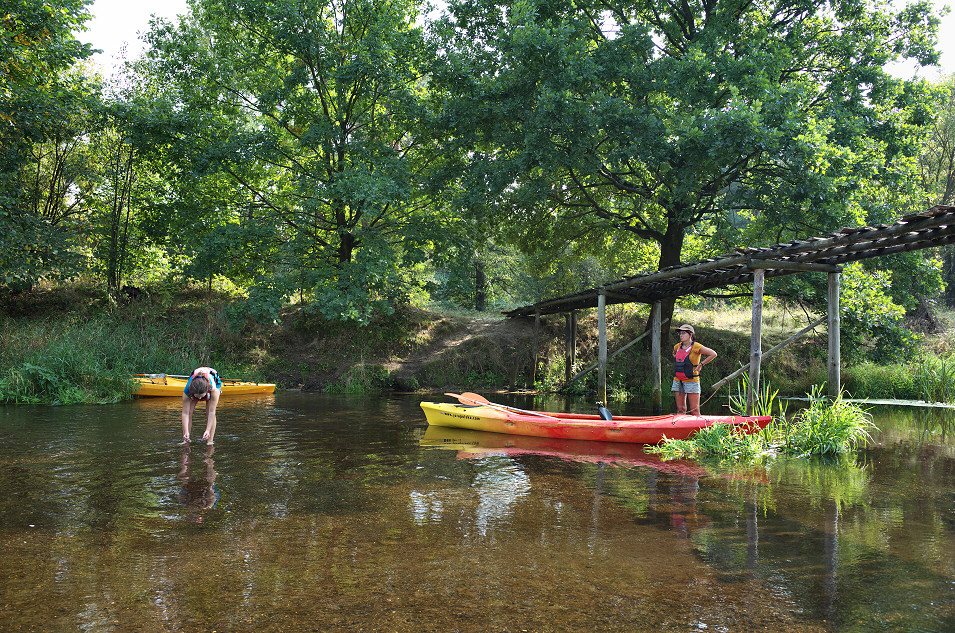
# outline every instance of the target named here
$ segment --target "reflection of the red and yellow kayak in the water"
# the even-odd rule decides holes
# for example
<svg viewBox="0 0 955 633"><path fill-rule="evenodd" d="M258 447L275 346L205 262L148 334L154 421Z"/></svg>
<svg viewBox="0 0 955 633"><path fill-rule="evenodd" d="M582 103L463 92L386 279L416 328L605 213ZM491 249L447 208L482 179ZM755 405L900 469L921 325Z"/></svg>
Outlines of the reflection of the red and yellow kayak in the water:
<svg viewBox="0 0 955 633"><path fill-rule="evenodd" d="M648 466L689 477L706 474L703 468L695 464L682 460L665 461L657 455L645 453L642 444L633 443L561 440L429 426L421 438L421 445L456 450L462 459L488 455L544 455L575 462Z"/></svg>

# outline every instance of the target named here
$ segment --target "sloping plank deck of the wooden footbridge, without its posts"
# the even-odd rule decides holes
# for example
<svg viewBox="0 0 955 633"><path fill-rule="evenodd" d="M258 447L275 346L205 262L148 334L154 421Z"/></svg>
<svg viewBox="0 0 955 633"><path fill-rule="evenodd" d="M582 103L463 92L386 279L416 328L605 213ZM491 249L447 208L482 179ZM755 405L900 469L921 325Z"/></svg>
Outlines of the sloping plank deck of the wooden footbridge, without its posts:
<svg viewBox="0 0 955 633"><path fill-rule="evenodd" d="M798 272L838 270L860 259L921 250L955 243L955 207L936 206L905 216L894 224L844 228L828 237L813 237L765 248L739 248L736 252L695 264L672 266L644 275L624 277L597 288L548 299L505 312L509 317L554 314L597 307L601 292L607 305L653 303L669 297L696 294L751 283L755 270L766 278Z"/></svg>

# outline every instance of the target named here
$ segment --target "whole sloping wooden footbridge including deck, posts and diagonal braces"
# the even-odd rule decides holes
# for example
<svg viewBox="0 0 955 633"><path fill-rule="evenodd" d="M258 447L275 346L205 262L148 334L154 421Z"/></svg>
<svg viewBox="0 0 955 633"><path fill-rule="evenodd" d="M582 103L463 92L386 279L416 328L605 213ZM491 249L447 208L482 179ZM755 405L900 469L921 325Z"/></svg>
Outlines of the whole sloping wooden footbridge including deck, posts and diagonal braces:
<svg viewBox="0 0 955 633"><path fill-rule="evenodd" d="M624 277L596 288L541 301L533 305L505 312L508 317L535 318L534 365L537 359L537 332L542 315L565 313L567 315L566 353L568 381L576 379L597 369L598 397L607 399L607 354L606 307L617 303L646 303L651 308L651 327L640 337L627 343L613 355L637 343L647 335L651 336L651 376L654 381L653 400L657 410L662 408L661 353L660 334L661 301L678 298L715 288L724 288L737 284L753 285L753 316L750 331L749 367L723 378L713 385L716 389L743 371L749 372L749 393L747 394L747 413L752 413L755 390L759 384L760 363L772 354L804 336L813 328L828 323L829 355L828 386L829 393L840 392L840 348L839 348L839 275L842 264L882 257L893 253L933 248L955 243L955 207L935 206L923 213L905 216L894 224L844 228L828 237L814 237L795 240L787 244L776 244L764 248L740 248L734 253L707 259L695 264L674 266L656 272ZM796 333L780 345L762 351L762 313L763 290L767 278L793 275L800 272L825 272L829 276L827 317L819 319L802 331ZM599 347L597 363L577 376L570 376L576 357L577 310L597 308Z"/></svg>

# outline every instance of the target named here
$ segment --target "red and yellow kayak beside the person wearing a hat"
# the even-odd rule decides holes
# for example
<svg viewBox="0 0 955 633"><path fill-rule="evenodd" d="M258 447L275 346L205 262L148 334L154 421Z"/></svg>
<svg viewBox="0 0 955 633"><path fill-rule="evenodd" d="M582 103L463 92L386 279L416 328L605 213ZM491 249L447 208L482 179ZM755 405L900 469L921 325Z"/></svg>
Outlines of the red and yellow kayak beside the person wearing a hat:
<svg viewBox="0 0 955 633"><path fill-rule="evenodd" d="M684 440L700 429L728 424L743 432L755 432L770 416L741 415L658 415L617 416L604 420L597 415L523 411L494 403L468 405L422 402L428 424L509 435L530 435L566 440L659 444L664 438Z"/></svg>

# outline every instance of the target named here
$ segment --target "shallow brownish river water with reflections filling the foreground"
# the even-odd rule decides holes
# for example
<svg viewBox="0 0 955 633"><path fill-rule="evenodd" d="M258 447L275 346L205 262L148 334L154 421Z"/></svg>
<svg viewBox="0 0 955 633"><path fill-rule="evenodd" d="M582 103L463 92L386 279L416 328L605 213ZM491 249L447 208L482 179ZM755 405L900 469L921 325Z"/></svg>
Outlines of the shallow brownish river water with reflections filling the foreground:
<svg viewBox="0 0 955 633"><path fill-rule="evenodd" d="M0 631L955 631L953 411L733 467L421 399L223 399L214 450L175 399L0 407Z"/></svg>

